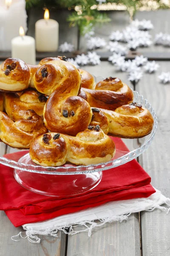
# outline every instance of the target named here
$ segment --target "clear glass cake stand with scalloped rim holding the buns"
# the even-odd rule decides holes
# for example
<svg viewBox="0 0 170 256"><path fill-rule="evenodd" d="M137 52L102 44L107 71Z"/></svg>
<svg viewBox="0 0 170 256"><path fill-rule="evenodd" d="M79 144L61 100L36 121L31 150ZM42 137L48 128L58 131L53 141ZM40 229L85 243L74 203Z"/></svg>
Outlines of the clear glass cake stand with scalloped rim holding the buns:
<svg viewBox="0 0 170 256"><path fill-rule="evenodd" d="M121 149L116 148L116 154L111 161L88 166L74 166L72 164L59 167L38 166L32 162L29 153L21 157L18 162L0 157L0 163L14 168L14 177L21 186L43 195L65 198L94 189L102 179L102 171L115 168L138 157L153 140L157 128L156 113L147 99L144 99L136 91L133 93L134 102L147 108L154 119L153 130L149 135L142 138L142 143L135 150L121 151Z"/></svg>

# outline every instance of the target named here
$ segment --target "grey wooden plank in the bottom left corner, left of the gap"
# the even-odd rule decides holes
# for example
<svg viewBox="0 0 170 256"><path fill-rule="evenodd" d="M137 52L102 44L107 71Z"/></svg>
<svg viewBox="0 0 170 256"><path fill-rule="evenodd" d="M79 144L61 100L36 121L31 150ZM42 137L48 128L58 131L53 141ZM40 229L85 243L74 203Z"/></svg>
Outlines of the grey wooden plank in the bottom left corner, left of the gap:
<svg viewBox="0 0 170 256"><path fill-rule="evenodd" d="M65 256L65 245L62 243L62 233L58 237L39 236L40 244L33 244L28 239L15 238L20 241L13 241L11 236L23 231L22 227L14 227L8 220L5 212L0 212L0 248L1 256ZM25 232L22 233L25 237Z"/></svg>

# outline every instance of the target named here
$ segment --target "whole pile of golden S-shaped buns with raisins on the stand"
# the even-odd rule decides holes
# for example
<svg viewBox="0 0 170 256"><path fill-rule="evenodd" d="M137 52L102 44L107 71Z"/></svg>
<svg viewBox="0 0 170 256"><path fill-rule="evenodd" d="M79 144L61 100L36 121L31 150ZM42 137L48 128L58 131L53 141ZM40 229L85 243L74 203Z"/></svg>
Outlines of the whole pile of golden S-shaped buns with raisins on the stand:
<svg viewBox="0 0 170 256"><path fill-rule="evenodd" d="M107 162L116 152L108 135L140 138L152 128L151 113L118 78L95 84L60 56L34 66L16 58L0 65L0 140L30 148L36 164Z"/></svg>

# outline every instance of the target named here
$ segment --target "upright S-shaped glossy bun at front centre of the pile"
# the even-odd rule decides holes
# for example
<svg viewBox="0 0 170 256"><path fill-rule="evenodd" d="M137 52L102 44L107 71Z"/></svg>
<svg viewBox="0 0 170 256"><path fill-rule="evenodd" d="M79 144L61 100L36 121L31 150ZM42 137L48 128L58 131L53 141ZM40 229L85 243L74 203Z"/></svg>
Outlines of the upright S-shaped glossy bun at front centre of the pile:
<svg viewBox="0 0 170 256"><path fill-rule="evenodd" d="M50 95L54 91L43 113L48 130L75 136L87 128L92 111L88 102L76 96L81 78L74 65L66 61L50 61L37 70L34 79L40 92Z"/></svg>

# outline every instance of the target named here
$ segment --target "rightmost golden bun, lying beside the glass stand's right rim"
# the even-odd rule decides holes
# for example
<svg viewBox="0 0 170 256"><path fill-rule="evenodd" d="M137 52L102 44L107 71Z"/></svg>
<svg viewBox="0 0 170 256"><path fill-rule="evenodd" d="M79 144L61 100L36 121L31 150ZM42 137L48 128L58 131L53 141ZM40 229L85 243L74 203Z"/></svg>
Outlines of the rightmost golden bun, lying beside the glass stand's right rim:
<svg viewBox="0 0 170 256"><path fill-rule="evenodd" d="M107 117L108 134L114 137L141 138L150 134L153 129L154 121L150 111L136 102L116 108L115 111L102 108L98 110ZM93 111L93 114L94 120L98 120L98 124L102 126L103 119L98 119L99 113Z"/></svg>

